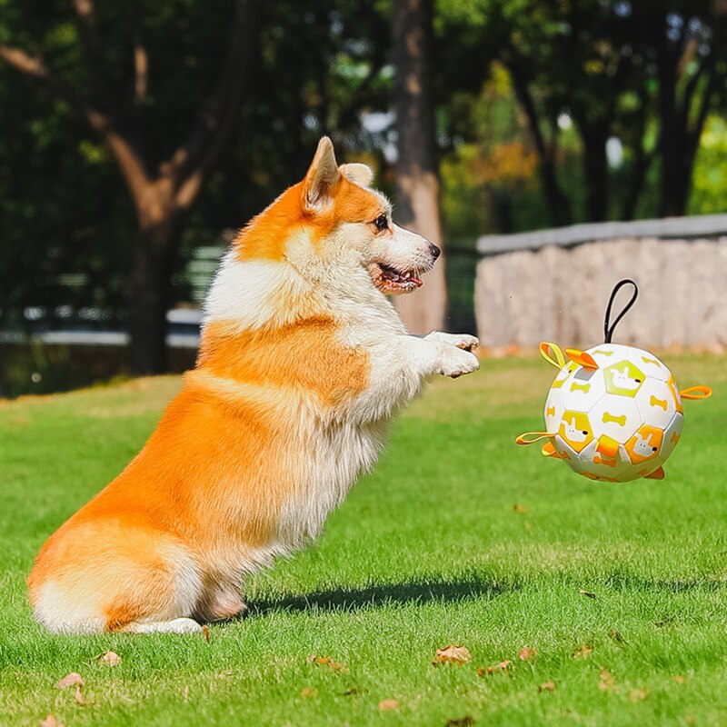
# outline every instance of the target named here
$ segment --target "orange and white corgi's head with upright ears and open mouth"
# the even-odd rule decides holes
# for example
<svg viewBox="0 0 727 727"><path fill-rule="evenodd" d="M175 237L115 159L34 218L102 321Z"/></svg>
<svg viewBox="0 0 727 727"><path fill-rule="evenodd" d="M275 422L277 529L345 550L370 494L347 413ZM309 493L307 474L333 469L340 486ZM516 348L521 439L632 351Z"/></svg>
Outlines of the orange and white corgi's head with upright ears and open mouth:
<svg viewBox="0 0 727 727"><path fill-rule="evenodd" d="M287 261L319 280L340 278L346 268L358 279L354 268L363 268L383 294L415 290L440 250L393 224L392 205L371 188L372 179L365 164L339 166L334 145L324 137L303 181L238 237L238 259Z"/></svg>

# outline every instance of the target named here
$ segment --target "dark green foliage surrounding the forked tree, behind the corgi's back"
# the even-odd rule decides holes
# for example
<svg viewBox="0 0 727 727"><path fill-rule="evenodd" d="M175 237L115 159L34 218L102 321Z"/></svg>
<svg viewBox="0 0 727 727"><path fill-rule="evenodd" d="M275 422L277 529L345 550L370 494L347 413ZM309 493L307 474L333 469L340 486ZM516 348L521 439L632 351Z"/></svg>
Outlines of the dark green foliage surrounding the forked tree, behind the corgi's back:
<svg viewBox="0 0 727 727"><path fill-rule="evenodd" d="M95 5L102 47L91 61L70 3L6 0L0 39L42 54L80 95L95 90L124 127L141 128L143 119L137 144L154 166L184 140L217 82L233 3ZM234 144L191 214L184 254L196 241L244 224L300 178L321 134L356 137L359 112L383 108L388 98L391 74L379 43L388 42L384 15L353 0L254 5L252 81ZM137 39L149 71L147 93L134 104ZM68 105L2 60L0 218L0 327L26 324L28 305L45 308L44 324L52 327L68 321L58 317L59 306L70 307L72 317L97 306L123 322L137 222L118 169ZM83 284L69 287L71 274Z"/></svg>

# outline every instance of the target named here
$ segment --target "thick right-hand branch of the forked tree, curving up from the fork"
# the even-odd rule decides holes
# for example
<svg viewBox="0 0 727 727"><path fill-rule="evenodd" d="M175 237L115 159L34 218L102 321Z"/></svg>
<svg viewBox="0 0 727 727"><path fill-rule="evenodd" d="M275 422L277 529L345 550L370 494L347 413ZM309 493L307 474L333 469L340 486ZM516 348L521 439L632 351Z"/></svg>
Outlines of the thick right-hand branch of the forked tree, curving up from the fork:
<svg viewBox="0 0 727 727"><path fill-rule="evenodd" d="M234 114L247 75L253 3L254 0L236 0L230 45L220 81L204 104L194 129L174 152L168 164L168 173L180 187L188 186L187 182L194 187L194 178L201 181L232 131ZM189 193L182 194L180 204L188 196Z"/></svg>

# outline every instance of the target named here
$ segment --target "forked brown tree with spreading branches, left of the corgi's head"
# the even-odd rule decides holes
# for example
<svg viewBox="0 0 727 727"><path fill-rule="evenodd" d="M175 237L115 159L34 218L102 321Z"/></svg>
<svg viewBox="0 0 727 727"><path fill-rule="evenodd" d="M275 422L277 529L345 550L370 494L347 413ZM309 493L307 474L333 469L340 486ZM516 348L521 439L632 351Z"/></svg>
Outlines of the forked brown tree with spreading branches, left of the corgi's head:
<svg viewBox="0 0 727 727"><path fill-rule="evenodd" d="M145 158L142 144L145 134L141 109L147 93L148 61L138 14L134 18L136 124L132 133L119 115L101 110L107 106L104 99L86 99L84 93L56 76L42 56L28 55L20 48L0 42L0 58L48 86L105 143L134 199L139 239L134 252L128 313L129 357L135 374L163 373L166 368L166 311L171 300L174 254L186 213L233 133L243 85L250 75L248 59L254 34L254 5L254 0L236 0L230 45L214 91L200 107L197 122L184 142L154 170ZM98 70L95 55L100 45L94 2L76 2L75 10L81 25L82 45L89 51L85 54L85 70L95 76Z"/></svg>

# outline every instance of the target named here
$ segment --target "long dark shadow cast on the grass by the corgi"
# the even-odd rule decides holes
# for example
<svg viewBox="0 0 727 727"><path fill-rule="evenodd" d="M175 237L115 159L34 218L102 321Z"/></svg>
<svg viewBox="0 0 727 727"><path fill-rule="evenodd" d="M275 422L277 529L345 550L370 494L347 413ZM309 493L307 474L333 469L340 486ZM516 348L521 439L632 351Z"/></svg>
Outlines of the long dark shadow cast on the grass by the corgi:
<svg viewBox="0 0 727 727"><path fill-rule="evenodd" d="M404 583L373 584L364 588L337 588L299 596L247 603L247 616L264 616L275 611L359 611L392 603L454 603L468 599L492 600L505 592L520 590L517 582L500 583L494 578L466 575L453 580L431 576Z"/></svg>

